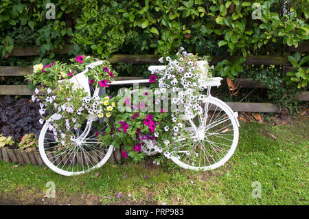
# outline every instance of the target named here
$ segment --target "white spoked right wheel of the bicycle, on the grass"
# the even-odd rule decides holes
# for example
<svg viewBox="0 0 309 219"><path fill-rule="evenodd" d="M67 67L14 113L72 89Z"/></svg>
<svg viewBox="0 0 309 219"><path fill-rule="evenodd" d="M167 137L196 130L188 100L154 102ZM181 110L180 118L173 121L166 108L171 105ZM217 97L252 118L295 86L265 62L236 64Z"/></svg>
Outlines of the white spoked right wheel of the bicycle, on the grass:
<svg viewBox="0 0 309 219"><path fill-rule="evenodd" d="M216 97L206 97L201 115L183 122L171 159L182 168L214 170L227 162L238 144L237 114Z"/></svg>

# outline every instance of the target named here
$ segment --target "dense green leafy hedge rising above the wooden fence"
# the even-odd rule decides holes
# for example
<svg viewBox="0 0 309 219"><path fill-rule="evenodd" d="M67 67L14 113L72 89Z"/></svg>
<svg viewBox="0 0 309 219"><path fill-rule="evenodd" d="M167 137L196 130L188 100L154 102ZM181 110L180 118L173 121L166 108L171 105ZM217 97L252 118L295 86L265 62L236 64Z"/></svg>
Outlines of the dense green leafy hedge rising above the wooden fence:
<svg viewBox="0 0 309 219"><path fill-rule="evenodd" d="M216 67L218 75L234 78L247 55L282 54L282 45L297 47L309 39L308 1L58 0L55 20L45 18L47 2L0 3L2 56L29 45L46 55L75 43L71 54L104 58L116 51L168 55L183 45L199 55L242 56Z"/></svg>

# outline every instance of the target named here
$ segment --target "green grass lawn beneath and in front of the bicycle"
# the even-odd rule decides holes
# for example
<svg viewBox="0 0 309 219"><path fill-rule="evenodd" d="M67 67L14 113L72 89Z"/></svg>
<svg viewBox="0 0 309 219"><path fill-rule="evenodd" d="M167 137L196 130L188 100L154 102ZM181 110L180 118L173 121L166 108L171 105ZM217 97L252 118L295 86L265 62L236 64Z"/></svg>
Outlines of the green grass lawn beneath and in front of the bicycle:
<svg viewBox="0 0 309 219"><path fill-rule="evenodd" d="M168 160L153 165L150 158L67 177L46 167L0 162L0 202L308 205L308 124L306 117L279 126L241 122L236 152L208 172L182 170ZM56 184L56 198L44 197L48 181ZM258 189L253 182L260 183L260 198L252 195ZM123 196L117 198L119 193Z"/></svg>

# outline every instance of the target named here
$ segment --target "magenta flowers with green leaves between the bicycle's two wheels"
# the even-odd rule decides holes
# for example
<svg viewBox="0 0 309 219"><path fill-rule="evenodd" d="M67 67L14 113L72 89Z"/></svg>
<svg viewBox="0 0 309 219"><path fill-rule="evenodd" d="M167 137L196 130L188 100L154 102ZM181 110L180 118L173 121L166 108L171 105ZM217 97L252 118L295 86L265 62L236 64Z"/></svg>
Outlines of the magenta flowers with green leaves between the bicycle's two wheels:
<svg viewBox="0 0 309 219"><path fill-rule="evenodd" d="M162 152L163 148L157 146L158 142L170 138L170 133L164 129L164 127L168 130L172 128L167 119L168 113L164 109L152 113L143 111L152 104L152 93L150 89L128 90L122 96L113 97L119 111L110 118L108 125L115 127L118 132L113 132L112 136L100 140L112 142L116 147L124 145L122 157L125 159L128 157L135 161L141 159L144 156L140 153L144 152L142 147L144 141L151 141L155 150ZM119 104L120 102L123 106ZM127 111L122 111L122 107Z"/></svg>

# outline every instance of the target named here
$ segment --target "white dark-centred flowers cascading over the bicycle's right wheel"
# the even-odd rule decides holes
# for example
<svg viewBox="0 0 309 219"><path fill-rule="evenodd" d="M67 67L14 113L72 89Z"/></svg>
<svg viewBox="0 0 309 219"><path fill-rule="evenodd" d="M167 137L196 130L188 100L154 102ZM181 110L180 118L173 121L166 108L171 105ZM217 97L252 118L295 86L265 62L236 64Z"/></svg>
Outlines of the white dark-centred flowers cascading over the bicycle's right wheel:
<svg viewBox="0 0 309 219"><path fill-rule="evenodd" d="M169 56L161 57L159 62L165 63L166 67L163 70L155 70L151 72L149 82L151 87L156 88L155 95L161 94L161 100L168 98L168 93L172 93L170 104L176 106L176 110L169 113L171 126L165 126L165 132L169 132L172 136L172 141L181 136L185 123L181 116L193 118L195 115L201 115L203 108L201 101L205 99L202 94L204 82L211 76L211 70L214 67L209 67L207 60L198 62L198 57L187 53L181 47L173 60ZM155 100L155 104L160 104L161 100ZM172 154L173 144L170 140L163 139L158 142L159 146L165 146L165 157L170 158Z"/></svg>

